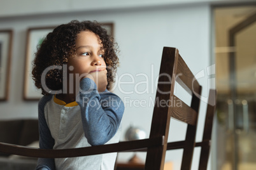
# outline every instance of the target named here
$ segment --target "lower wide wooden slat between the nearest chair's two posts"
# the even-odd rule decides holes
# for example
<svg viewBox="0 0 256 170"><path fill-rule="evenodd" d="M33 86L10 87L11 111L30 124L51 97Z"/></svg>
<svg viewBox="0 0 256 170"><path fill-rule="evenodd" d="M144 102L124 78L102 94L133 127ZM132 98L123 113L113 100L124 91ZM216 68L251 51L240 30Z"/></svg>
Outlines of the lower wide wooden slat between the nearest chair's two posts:
<svg viewBox="0 0 256 170"><path fill-rule="evenodd" d="M178 119L179 121L186 122L187 124L195 125L197 112L193 108L189 107L182 100L180 100L180 98L175 95L173 96L173 102L181 103L181 105L174 105L174 107L171 108L171 117L173 117L174 119ZM184 112L188 114L182 114Z"/></svg>

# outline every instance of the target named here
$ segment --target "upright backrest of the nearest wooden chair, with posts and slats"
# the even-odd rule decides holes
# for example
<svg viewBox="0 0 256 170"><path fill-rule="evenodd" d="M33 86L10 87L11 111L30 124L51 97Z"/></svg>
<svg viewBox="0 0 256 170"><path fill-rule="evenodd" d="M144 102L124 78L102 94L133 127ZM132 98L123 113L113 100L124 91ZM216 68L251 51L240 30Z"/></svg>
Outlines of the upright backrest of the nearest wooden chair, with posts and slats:
<svg viewBox="0 0 256 170"><path fill-rule="evenodd" d="M171 77L171 82L170 82ZM174 95L174 84L178 82L192 95L188 106ZM147 150L145 169L163 169L167 149L167 138L171 117L188 124L183 147L183 162L181 169L190 169L196 139L197 119L201 96L201 86L194 78L191 70L181 58L178 49L164 47L160 65L159 84L157 86L157 101L172 101L181 103L180 107L165 105L159 107L155 102L153 110L150 138L164 136L164 145L150 147Z"/></svg>

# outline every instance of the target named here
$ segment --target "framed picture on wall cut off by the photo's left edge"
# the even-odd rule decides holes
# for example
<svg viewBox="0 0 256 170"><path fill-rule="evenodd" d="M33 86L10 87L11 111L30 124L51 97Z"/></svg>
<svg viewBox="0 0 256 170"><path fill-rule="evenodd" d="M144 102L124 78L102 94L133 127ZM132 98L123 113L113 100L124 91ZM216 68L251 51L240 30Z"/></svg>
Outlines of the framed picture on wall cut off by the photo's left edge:
<svg viewBox="0 0 256 170"><path fill-rule="evenodd" d="M0 101L8 100L12 30L0 30Z"/></svg>

